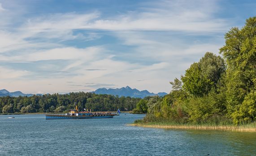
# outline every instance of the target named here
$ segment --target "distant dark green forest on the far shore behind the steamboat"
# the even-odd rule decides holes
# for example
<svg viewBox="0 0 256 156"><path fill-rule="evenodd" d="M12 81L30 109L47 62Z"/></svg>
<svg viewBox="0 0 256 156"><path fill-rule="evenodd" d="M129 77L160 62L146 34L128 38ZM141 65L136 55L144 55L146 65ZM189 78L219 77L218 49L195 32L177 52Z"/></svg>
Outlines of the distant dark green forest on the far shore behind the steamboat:
<svg viewBox="0 0 256 156"><path fill-rule="evenodd" d="M136 107L140 98L118 97L107 94L69 93L44 94L31 97L0 97L0 112L2 113L36 113L65 112L73 109L75 104L79 110L91 111L130 111Z"/></svg>

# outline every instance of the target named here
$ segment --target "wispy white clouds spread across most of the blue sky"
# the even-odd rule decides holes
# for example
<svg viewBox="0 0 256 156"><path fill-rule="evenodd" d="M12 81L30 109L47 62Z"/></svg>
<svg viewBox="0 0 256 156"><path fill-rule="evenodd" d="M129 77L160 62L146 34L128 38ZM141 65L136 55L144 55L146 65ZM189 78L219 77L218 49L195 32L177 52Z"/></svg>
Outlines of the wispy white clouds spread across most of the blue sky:
<svg viewBox="0 0 256 156"><path fill-rule="evenodd" d="M0 4L0 17L3 17L0 18L3 28L0 29L0 62L48 61L48 64L35 69L45 72L60 70L56 77L42 75L33 79L33 74L42 73L0 67L0 78L17 78L12 81L5 79L0 86L11 90L26 88L22 91L27 93L36 93L38 88L43 93L63 93L94 90L93 86L84 85L93 82L168 92L169 81L179 77L191 62L197 61L206 51L217 53L217 48L221 46L216 41L188 41L186 35L213 35L226 31L229 23L214 17L218 10L215 0L161 0L141 6L136 11L122 12L117 16L106 17L100 12L65 12L35 15L27 19L22 13L17 13L21 11L11 14L9 8L7 10ZM18 22L13 24L13 21ZM77 30L87 33L75 32ZM112 45L113 50L109 50L108 45L78 48L64 42L96 40L101 37L99 31L104 32L103 35L116 37L115 44L118 46L132 48L122 52L122 49L115 49L115 45ZM170 32L175 32L176 36ZM54 60L66 63L50 62ZM30 74L27 77L29 81L19 79ZM144 81L137 81L142 79ZM69 86L67 81L75 82L76 86Z"/></svg>

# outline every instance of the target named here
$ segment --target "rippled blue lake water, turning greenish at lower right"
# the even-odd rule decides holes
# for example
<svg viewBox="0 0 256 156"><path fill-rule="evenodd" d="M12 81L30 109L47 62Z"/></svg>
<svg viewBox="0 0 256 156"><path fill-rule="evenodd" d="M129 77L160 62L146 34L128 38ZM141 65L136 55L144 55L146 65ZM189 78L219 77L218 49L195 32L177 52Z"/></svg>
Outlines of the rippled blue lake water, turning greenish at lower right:
<svg viewBox="0 0 256 156"><path fill-rule="evenodd" d="M15 116L15 119L8 119ZM256 133L130 127L143 115L45 120L0 115L0 156L252 156Z"/></svg>

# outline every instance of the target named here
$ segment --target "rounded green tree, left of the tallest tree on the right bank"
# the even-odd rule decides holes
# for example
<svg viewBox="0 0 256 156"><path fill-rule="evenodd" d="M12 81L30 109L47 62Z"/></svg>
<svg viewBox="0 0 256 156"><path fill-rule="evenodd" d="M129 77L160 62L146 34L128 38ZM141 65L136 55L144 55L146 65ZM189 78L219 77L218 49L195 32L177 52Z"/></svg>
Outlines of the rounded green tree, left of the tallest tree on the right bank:
<svg viewBox="0 0 256 156"><path fill-rule="evenodd" d="M181 77L183 88L191 95L202 97L207 95L212 88L216 89L221 75L226 66L220 56L205 53L198 63L193 63Z"/></svg>

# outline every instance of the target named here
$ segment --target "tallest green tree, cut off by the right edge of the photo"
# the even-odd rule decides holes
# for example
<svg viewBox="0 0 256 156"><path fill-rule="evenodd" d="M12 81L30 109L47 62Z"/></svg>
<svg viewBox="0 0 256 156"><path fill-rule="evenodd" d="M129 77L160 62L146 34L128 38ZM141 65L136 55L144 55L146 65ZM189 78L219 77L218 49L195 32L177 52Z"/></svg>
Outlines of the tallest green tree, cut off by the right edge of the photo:
<svg viewBox="0 0 256 156"><path fill-rule="evenodd" d="M252 113L256 105L252 98L256 90L256 16L247 19L242 29L231 28L225 39L220 53L227 62L228 114L236 124L252 122L256 117Z"/></svg>

